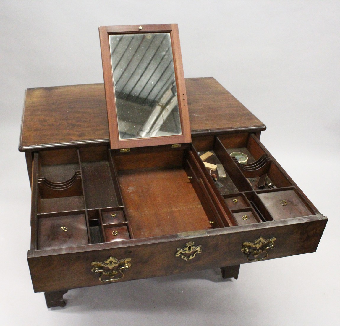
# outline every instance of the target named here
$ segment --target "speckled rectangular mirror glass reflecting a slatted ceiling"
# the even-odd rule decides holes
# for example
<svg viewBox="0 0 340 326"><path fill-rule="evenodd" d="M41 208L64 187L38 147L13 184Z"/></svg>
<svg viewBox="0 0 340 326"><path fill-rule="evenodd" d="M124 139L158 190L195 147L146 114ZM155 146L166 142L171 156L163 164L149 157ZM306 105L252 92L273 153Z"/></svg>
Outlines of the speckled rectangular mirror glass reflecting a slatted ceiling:
<svg viewBox="0 0 340 326"><path fill-rule="evenodd" d="M181 135L170 33L109 35L119 139Z"/></svg>

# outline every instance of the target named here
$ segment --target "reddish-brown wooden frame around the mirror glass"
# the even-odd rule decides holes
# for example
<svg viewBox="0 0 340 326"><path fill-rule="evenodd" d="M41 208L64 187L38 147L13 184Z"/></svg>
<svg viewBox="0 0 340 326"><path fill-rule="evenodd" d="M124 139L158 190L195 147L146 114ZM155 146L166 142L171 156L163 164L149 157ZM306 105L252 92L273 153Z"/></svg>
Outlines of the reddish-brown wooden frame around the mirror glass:
<svg viewBox="0 0 340 326"><path fill-rule="evenodd" d="M182 134L180 135L133 139L119 138L117 106L112 72L109 35L138 33L170 33L178 107L182 129ZM191 134L189 124L189 111L186 98L180 38L177 24L102 26L99 27L99 37L103 64L105 98L111 149L190 143Z"/></svg>

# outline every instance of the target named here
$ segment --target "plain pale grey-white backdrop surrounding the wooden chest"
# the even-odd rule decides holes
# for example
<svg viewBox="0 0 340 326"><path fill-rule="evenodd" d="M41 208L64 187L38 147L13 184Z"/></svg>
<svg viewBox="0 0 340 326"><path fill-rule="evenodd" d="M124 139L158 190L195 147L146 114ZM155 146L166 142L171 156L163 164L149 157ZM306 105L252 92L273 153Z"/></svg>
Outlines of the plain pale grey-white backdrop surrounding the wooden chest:
<svg viewBox="0 0 340 326"><path fill-rule="evenodd" d="M339 322L339 1L0 1L1 325L335 325ZM98 27L179 24L185 77L215 77L329 217L316 253L34 293L30 187L17 150L26 88L103 82ZM337 208L337 211L336 211Z"/></svg>

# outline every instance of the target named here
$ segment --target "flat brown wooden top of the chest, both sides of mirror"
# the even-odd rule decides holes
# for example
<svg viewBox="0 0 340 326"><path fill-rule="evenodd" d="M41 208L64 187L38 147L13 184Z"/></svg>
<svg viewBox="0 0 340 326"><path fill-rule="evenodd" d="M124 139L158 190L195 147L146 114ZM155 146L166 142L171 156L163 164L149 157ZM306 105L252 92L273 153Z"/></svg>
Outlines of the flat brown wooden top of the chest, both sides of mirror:
<svg viewBox="0 0 340 326"><path fill-rule="evenodd" d="M192 136L266 126L212 77L186 78ZM26 91L19 151L109 143L104 84Z"/></svg>

